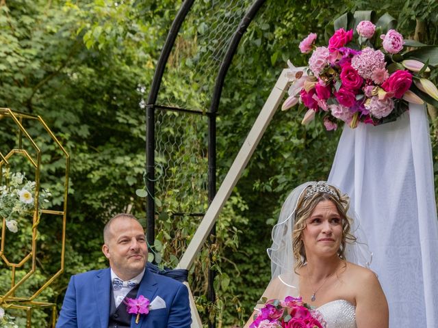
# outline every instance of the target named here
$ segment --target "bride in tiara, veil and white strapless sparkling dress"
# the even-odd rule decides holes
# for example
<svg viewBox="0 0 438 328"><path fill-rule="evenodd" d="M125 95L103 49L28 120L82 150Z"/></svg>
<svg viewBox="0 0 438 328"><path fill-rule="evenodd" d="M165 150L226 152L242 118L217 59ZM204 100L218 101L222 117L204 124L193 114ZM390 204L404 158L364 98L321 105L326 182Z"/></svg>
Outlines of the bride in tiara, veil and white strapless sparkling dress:
<svg viewBox="0 0 438 328"><path fill-rule="evenodd" d="M322 181L301 184L283 204L272 240L272 279L263 297L300 296L327 328L388 327L387 301L368 269L371 254L347 195Z"/></svg>

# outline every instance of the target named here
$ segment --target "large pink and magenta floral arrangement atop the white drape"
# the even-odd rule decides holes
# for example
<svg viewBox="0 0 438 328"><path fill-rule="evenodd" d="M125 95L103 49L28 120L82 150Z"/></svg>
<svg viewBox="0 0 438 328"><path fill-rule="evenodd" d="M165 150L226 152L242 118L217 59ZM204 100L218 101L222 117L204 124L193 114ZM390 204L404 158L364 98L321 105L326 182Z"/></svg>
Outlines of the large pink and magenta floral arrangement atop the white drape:
<svg viewBox="0 0 438 328"><path fill-rule="evenodd" d="M404 40L393 28L394 18L385 14L374 24L373 14L348 13L335 20L326 46L315 46L315 33L300 42L301 53L311 53L309 66L300 69L288 62L293 83L283 110L300 102L308 109L302 124L320 113L330 131L339 122L355 128L359 122L394 121L408 102L438 105L437 87L427 79L429 66L438 65L438 47Z"/></svg>

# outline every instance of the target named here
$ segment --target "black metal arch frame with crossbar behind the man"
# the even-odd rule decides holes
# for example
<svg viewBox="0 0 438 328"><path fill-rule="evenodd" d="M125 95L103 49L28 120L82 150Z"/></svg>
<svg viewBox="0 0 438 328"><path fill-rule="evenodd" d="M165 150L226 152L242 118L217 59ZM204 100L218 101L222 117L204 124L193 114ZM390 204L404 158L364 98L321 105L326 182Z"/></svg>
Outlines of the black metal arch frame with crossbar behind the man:
<svg viewBox="0 0 438 328"><path fill-rule="evenodd" d="M149 98L146 105L146 189L148 191L147 206L146 206L146 237L149 241L149 245L153 245L155 242L155 109L166 109L172 111L183 111L186 113L197 113L201 115L207 115L208 118L208 199L209 203L214 199L216 195L216 115L218 113L218 107L220 102L220 96L222 94L222 89L224 86L224 80L227 76L228 69L231 65L231 61L235 55L237 47L239 46L242 36L246 32L246 29L250 25L251 21L254 19L255 15L265 3L266 0L255 0L250 6L248 12L240 21L235 33L233 33L233 38L229 44L227 52L224 55L222 64L220 66L218 77L216 77L216 84L214 87L214 92L211 98L211 104L209 111L203 113L201 111L192 111L190 109L181 109L177 107L166 107L162 105L156 105L159 87L162 83L162 77L164 74L164 69L168 61L172 47L175 44L175 40L181 29L181 25L185 20L185 17L190 12L194 0L185 0L181 5L175 20L173 21L166 42L164 44L162 53L159 56L157 63L157 68L153 77L153 82L151 85L151 92L149 93ZM194 213L192 213L194 215ZM200 213L196 213L199 216ZM214 236L216 234L216 225L211 229L211 236L209 242L214 242ZM212 303L216 300L216 293L214 292L214 276L215 273L211 269L209 270L209 290L208 299ZM215 322L208 323L209 328L216 327Z"/></svg>

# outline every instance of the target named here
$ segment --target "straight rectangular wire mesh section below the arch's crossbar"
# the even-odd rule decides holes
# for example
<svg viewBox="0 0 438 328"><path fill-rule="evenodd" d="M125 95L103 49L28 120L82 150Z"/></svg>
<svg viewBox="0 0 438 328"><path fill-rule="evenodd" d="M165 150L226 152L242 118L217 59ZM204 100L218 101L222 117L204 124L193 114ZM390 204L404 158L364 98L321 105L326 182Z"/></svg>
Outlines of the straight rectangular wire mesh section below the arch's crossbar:
<svg viewBox="0 0 438 328"><path fill-rule="evenodd" d="M155 203L158 210L203 213L208 204L207 117L157 110L155 132Z"/></svg>

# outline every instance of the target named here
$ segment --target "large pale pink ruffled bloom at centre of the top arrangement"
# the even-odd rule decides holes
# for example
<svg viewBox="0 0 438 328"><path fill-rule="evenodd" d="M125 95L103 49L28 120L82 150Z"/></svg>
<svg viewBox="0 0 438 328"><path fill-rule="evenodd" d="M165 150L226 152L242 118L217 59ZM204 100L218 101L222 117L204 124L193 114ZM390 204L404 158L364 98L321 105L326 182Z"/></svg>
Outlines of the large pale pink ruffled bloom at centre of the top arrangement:
<svg viewBox="0 0 438 328"><path fill-rule="evenodd" d="M351 59L351 66L355 68L363 79L372 79L375 70L385 69L385 55L380 50L367 47Z"/></svg>

